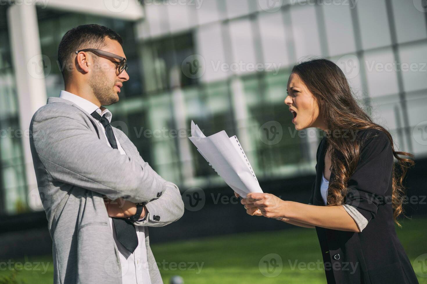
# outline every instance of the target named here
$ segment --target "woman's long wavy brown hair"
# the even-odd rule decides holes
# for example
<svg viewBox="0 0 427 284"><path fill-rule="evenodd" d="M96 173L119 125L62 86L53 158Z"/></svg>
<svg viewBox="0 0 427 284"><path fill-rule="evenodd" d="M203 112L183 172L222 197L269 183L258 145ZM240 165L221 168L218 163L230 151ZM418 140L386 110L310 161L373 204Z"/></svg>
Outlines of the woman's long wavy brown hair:
<svg viewBox="0 0 427 284"><path fill-rule="evenodd" d="M403 201L406 196L404 177L407 169L414 165L413 155L395 151L392 135L384 127L374 123L357 105L344 73L335 63L327 59L312 59L295 65L292 73L298 74L307 89L313 93L319 106L319 116L324 119L327 132L335 134L349 130L377 129L387 135L397 160L393 163L392 207L394 221L400 227L397 218L404 213ZM328 205L345 203L348 180L360 160L363 141L344 138L346 136L348 135L326 135L331 147L330 170L335 175L329 184Z"/></svg>

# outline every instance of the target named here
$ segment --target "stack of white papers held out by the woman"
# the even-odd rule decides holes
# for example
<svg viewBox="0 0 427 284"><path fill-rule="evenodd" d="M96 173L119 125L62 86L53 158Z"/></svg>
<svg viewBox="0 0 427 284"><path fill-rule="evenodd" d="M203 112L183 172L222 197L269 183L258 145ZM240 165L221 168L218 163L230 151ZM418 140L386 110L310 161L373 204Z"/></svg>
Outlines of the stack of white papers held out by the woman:
<svg viewBox="0 0 427 284"><path fill-rule="evenodd" d="M236 136L222 130L206 137L191 120L191 142L225 183L246 198L249 192L263 192Z"/></svg>

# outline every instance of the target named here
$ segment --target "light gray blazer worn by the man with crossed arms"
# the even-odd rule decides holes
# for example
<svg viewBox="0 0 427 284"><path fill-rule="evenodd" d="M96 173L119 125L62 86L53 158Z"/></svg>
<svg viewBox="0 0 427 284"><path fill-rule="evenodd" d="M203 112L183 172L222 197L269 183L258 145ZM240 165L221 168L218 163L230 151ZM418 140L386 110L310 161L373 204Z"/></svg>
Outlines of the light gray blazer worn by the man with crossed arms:
<svg viewBox="0 0 427 284"><path fill-rule="evenodd" d="M53 240L54 284L121 284L119 252L103 195L146 202L145 245L153 284L163 283L149 246L147 226L160 227L184 213L178 187L140 157L114 128L126 155L109 147L95 119L62 98L48 98L30 124L30 146ZM160 196L160 197L159 197Z"/></svg>

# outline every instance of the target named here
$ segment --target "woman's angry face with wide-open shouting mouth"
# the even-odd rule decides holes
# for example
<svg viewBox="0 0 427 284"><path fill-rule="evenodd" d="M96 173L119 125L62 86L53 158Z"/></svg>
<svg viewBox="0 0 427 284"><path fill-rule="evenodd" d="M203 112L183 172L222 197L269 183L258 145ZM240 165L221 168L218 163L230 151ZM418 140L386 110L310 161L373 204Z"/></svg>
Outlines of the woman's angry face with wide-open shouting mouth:
<svg viewBox="0 0 427 284"><path fill-rule="evenodd" d="M292 123L295 124L296 130L309 127L324 128L325 123L319 118L319 106L314 95L296 73L292 73L289 77L287 94L285 103L292 112Z"/></svg>

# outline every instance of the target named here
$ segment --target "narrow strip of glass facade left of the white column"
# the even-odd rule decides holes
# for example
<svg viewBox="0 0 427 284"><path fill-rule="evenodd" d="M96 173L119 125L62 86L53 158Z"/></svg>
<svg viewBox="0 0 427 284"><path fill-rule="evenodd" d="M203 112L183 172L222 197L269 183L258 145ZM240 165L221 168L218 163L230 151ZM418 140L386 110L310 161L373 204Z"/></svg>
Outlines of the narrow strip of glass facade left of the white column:
<svg viewBox="0 0 427 284"><path fill-rule="evenodd" d="M18 117L15 79L6 7L0 6L0 214L27 210L26 166L22 151L22 140L26 136Z"/></svg>

